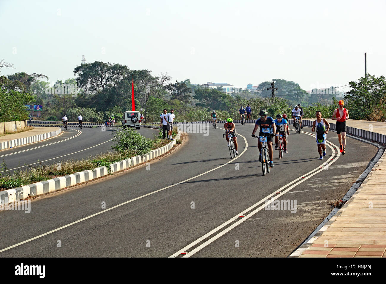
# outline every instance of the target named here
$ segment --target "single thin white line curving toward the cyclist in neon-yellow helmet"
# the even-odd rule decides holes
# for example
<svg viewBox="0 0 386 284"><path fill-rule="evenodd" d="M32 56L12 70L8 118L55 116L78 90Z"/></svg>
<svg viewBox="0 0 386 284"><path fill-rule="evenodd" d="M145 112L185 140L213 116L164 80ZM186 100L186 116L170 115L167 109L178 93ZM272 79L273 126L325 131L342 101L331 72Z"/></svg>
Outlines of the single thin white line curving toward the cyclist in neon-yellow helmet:
<svg viewBox="0 0 386 284"><path fill-rule="evenodd" d="M128 204L128 203L130 203L130 202L133 202L133 201L135 201L135 200L137 200L137 199L141 199L141 198L143 198L143 197L149 196L149 195L154 194L154 193L156 193L156 192L159 192L159 191L168 189L168 188L170 188L170 187L173 187L173 186L182 184L182 183L187 182L187 181L189 181L189 180L195 179L196 177L200 177L201 175L205 175L206 173L210 173L210 172L212 172L212 171L214 171L214 170L217 170L218 168L221 168L221 167L223 167L223 166L225 166L225 165L228 165L229 163L233 162L234 160L236 160L237 158L239 158L240 156L242 156L242 155L245 153L245 151L247 151L247 149L248 149L248 142L247 142L247 139L245 139L245 137L242 136L241 134L237 134L237 135L238 135L238 136L241 136L241 137L244 139L244 141L245 141L245 148L244 148L244 151L242 151L241 154L237 155L235 158L233 158L233 159L230 160L229 162L227 162L227 163L225 163L225 164L223 164L223 165L221 165L221 166L218 166L217 168L213 168L212 170L208 170L208 171L205 172L205 173L201 173L201 174L199 174L199 175L196 175L195 177L191 177L190 179L183 180L182 182L178 182L178 183L176 183L176 184L169 185L169 186L167 186L167 187L164 187L164 188L155 190L155 191L153 191L153 192L149 192L148 194L144 194L144 195L139 196L139 197L136 197L136 198L134 198L134 199L130 199L129 201L125 201L125 202L123 202L123 203L121 203L121 204L115 205L115 206L113 206L113 207L111 207L111 208L108 208L108 209L105 209L105 210L103 210L103 211L101 211L101 212L92 214L92 215L87 216L87 217L85 217L85 218L82 218L82 219L80 219L80 220L78 220L78 221L74 221L73 223L70 223L70 224L61 226L60 228L51 230L51 231L49 231L49 232L47 232L47 233L44 233L44 234L42 234L42 235L39 235L39 236L30 238L30 239L25 240L25 241L22 241L22 242L20 242L20 243L17 243L17 244L15 244L15 245L10 246L10 247L3 248L2 250L0 250L0 253L1 253L1 252L4 252L5 250L9 250L10 248L18 247L19 245L23 245L24 243L28 243L29 241L33 241L33 240L36 240L36 239L38 239L38 238L41 238L42 236L46 236L46 235L49 235L49 234L54 233L54 232L56 232L56 231L59 231L59 230L61 230L61 229L67 228L67 227L69 227L69 226L71 226L71 225L73 225L73 224L76 224L76 223L79 223L79 222L81 222L81 221L90 219L91 217L94 217L94 216L97 216L97 215L99 215L99 214L105 213L105 212L110 211L110 210L112 210L112 209L115 209L115 208L117 208L117 207L123 206L123 205ZM110 141L110 140L109 140L109 141ZM107 142L108 142L108 141L107 141ZM104 143L105 143L105 142L104 142ZM103 143L102 143L102 144L103 144ZM92 148L92 147L91 147L91 148ZM44 162L44 161L43 161L43 162Z"/></svg>

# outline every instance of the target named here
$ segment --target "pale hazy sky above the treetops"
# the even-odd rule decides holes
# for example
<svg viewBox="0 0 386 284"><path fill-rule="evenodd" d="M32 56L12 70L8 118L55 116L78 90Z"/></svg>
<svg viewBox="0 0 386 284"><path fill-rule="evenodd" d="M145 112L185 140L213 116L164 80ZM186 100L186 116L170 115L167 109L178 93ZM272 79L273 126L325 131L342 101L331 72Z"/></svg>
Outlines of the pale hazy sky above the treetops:
<svg viewBox="0 0 386 284"><path fill-rule="evenodd" d="M2 74L74 78L86 62L238 87L315 87L386 75L386 1L0 0Z"/></svg>

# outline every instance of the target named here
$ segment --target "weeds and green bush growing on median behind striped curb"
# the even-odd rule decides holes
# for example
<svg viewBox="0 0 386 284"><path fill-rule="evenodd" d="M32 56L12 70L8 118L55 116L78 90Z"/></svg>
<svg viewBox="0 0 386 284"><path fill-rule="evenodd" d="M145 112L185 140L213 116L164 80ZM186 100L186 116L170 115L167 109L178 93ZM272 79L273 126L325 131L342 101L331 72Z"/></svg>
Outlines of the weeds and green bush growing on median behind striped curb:
<svg viewBox="0 0 386 284"><path fill-rule="evenodd" d="M100 153L80 160L66 160L59 164L29 166L27 169L17 169L14 172L7 170L3 161L0 164L0 190L33 184L43 180L62 177L84 170L93 170L97 167L107 167L110 171L110 163L120 162L132 156L145 155L151 150L168 144L169 140L162 139L162 132L153 134L154 139L149 139L133 129L117 130L112 142L112 151ZM177 135L177 128L173 127L173 137ZM20 166L20 165L19 165Z"/></svg>

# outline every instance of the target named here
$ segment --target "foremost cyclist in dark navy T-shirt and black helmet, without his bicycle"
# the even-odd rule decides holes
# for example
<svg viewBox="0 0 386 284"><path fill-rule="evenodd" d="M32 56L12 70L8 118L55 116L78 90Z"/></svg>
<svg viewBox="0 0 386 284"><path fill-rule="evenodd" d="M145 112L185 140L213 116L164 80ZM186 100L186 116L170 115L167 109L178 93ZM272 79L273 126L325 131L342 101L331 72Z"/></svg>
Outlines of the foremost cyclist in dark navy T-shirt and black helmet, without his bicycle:
<svg viewBox="0 0 386 284"><path fill-rule="evenodd" d="M252 131L252 137L255 137L255 132L257 128L260 126L260 133L259 136L262 136L263 133L276 133L276 125L275 122L273 121L273 118L268 116L268 112L266 110L262 110L259 112L260 118L256 120L255 128ZM272 136L267 136L267 145L268 145L268 153L269 153L269 167L273 167L273 148L272 148L272 143L273 143L273 137ZM259 138L259 162L261 162L261 144L260 138Z"/></svg>

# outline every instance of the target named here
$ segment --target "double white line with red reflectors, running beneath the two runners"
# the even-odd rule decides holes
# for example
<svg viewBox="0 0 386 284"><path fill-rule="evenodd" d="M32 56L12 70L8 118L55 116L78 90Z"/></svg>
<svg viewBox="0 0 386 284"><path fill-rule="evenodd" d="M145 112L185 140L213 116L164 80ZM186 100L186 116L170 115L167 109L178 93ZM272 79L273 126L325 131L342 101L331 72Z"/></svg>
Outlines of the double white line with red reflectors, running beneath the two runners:
<svg viewBox="0 0 386 284"><path fill-rule="evenodd" d="M315 135L313 134L310 134L310 133L306 133L306 132L303 132L304 134L307 134L307 135L310 135L312 137L315 137ZM331 145L337 147L336 145L334 145L333 143L331 143L330 141L326 140L327 142L329 142ZM327 144L327 143L326 143ZM334 151L334 148L327 144L331 150L332 150L332 156L331 158L334 158L335 156L335 151ZM338 152L338 155L337 155L337 158L340 156L340 153ZM196 244L200 243L202 240L205 240L206 238L208 238L208 236L210 235L213 235L214 233L216 233L217 231L221 230L223 227L227 226L228 224L232 223L233 221L235 221L236 219L239 218L239 216L242 216L242 215L245 215L247 212L249 212L250 210L252 210L253 208L255 208L256 206L259 206L260 204L262 204L264 201L266 201L267 199L269 199L270 197L273 197L275 196L274 198L272 198L269 202L267 203L264 203L262 206L258 207L257 209L255 209L254 211L252 211L250 214L248 214L247 216L243 217L242 219L240 219L239 221L237 221L236 223L232 224L231 226L229 226L227 229L221 231L220 233L218 233L217 235L213 236L212 238L210 238L209 240L207 240L205 243L201 244L200 246L198 246L197 248L193 249L191 252L188 252L186 255L184 255L183 257L190 257L191 255L195 254L196 252L198 252L199 250L201 250L202 248L206 247L207 245L209 245L210 243L212 243L213 241L217 240L218 238L220 238L222 235L224 235L225 233L227 233L228 231L232 230L233 228L235 228L237 225L241 224L242 222L244 222L245 220L247 220L248 218L250 218L251 216L253 216L254 214L256 214L257 212L259 212L262 208L264 208L265 206L267 206L267 204L273 202L275 199L277 199L278 197L282 196L283 194L285 194L286 192L288 192L289 190L293 189L296 185L302 183L304 180L307 180L309 179L310 177L312 177L313 175L321 172L322 170L324 170L324 168L322 169L319 169L320 167L323 167L323 165L330 165L332 163L334 163L336 160L332 160L330 163L328 162L324 162L322 165L320 165L319 167L313 169L312 171L304 174L304 175L301 175L300 177L298 177L297 179L293 180L292 182L289 182L288 184L284 185L283 187L281 187L280 189L278 190L275 190L273 193L271 193L270 195L266 196L265 198L261 199L259 202L257 202L256 204L252 205L251 207L249 207L248 209L245 209L244 211L242 211L241 213L237 214L236 216L234 216L233 218L229 219L228 221L226 221L225 223L221 224L220 226L218 226L217 228L213 229L212 231L210 231L209 233L201 236L200 238L198 238L197 240L193 241L192 243L190 243L189 245L187 245L186 247L182 248L181 250L179 250L178 252L174 253L173 255L171 255L170 257L177 257L178 255L180 255L181 252L186 252L189 250L189 248L195 246ZM316 171L316 172L315 172ZM314 173L312 173L314 172ZM312 173L312 174L311 174ZM310 175L309 175L310 174ZM307 176L307 177L305 177ZM302 179L302 177L305 177L304 179ZM299 181L298 181L299 180ZM296 184L294 185L291 185L293 184L294 182L298 181ZM291 185L291 187L289 187L288 189L282 191L284 188L286 188L288 185ZM280 192L280 194L277 194L276 192Z"/></svg>

